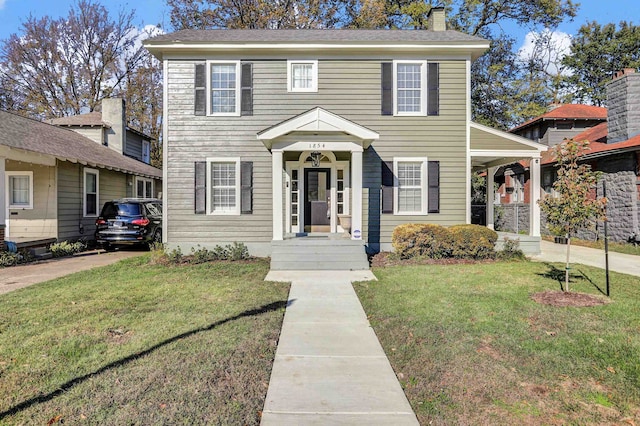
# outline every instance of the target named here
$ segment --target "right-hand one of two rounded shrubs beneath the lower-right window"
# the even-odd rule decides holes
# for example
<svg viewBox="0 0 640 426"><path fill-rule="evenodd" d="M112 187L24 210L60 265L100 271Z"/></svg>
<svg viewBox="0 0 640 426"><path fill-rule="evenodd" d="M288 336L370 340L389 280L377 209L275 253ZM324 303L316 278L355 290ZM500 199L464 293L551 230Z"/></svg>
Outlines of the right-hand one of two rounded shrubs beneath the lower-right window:
<svg viewBox="0 0 640 426"><path fill-rule="evenodd" d="M451 254L459 259L491 259L495 257L498 234L481 225L454 225Z"/></svg>

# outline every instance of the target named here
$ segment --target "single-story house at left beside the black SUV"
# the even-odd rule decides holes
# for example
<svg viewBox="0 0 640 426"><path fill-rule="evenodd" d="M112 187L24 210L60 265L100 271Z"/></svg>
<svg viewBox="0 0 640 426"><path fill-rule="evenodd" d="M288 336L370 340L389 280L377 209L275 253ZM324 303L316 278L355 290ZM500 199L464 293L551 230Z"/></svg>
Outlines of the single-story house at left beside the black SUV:
<svg viewBox="0 0 640 426"><path fill-rule="evenodd" d="M0 111L0 244L93 239L105 201L158 196L162 171L112 140Z"/></svg>

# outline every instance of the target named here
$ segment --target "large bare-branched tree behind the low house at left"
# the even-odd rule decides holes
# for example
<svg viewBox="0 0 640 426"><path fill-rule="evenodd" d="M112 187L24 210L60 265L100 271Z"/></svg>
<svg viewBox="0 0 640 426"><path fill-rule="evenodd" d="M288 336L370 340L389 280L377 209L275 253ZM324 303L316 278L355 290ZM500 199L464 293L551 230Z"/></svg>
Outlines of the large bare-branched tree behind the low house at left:
<svg viewBox="0 0 640 426"><path fill-rule="evenodd" d="M121 96L132 127L159 140L162 70L142 47L149 34L135 27L134 15L112 18L99 3L79 0L64 18L30 16L20 34L0 43L0 107L44 120L91 112L103 98Z"/></svg>

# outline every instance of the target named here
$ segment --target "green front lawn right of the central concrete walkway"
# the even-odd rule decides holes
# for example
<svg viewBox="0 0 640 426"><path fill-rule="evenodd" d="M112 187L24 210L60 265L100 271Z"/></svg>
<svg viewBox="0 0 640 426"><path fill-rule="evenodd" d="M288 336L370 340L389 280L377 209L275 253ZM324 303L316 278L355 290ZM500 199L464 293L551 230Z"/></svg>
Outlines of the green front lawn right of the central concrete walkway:
<svg viewBox="0 0 640 426"><path fill-rule="evenodd" d="M600 294L602 270L573 271L573 291ZM421 424L640 419L640 278L612 274L612 303L559 308L530 299L560 288L542 263L374 272L355 288Z"/></svg>

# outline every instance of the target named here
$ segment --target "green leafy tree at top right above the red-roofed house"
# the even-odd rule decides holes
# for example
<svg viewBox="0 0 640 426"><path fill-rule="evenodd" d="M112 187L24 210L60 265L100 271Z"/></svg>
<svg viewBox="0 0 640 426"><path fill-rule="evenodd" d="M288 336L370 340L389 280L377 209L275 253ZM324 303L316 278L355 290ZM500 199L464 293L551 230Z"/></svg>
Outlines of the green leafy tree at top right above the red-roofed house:
<svg viewBox="0 0 640 426"><path fill-rule="evenodd" d="M574 87L574 100L602 106L613 73L640 67L640 27L625 21L619 26L588 22L573 38L563 64L571 72L567 82Z"/></svg>

